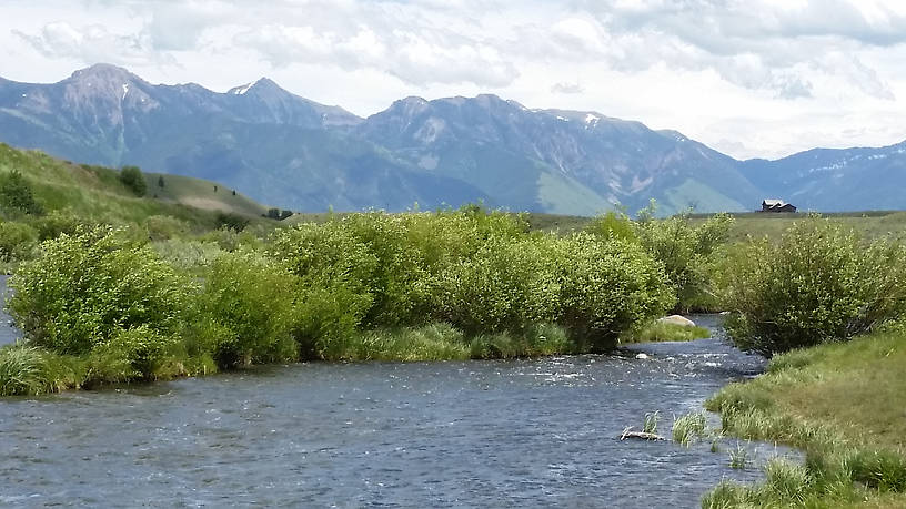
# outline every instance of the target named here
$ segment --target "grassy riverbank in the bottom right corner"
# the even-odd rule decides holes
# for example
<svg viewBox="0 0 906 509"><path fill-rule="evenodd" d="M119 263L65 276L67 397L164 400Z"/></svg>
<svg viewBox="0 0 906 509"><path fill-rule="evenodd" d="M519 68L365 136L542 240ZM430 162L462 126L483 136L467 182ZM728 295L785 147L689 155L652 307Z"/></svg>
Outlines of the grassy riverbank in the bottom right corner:
<svg viewBox="0 0 906 509"><path fill-rule="evenodd" d="M906 506L906 328L774 357L767 373L707 400L725 434L784 442L803 465L774 462L767 481L725 482L725 507Z"/></svg>

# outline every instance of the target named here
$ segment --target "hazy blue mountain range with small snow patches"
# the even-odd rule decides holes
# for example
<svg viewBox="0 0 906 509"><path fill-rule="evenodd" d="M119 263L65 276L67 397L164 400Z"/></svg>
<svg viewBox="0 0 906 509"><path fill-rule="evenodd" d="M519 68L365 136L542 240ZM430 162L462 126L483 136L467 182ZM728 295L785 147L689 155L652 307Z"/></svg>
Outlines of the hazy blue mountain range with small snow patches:
<svg viewBox="0 0 906 509"><path fill-rule="evenodd" d="M593 215L757 208L906 208L906 142L737 161L676 131L597 112L530 110L495 95L406 98L366 119L263 78L218 93L97 64L58 83L0 78L0 141L80 163L214 180L316 212L482 201Z"/></svg>

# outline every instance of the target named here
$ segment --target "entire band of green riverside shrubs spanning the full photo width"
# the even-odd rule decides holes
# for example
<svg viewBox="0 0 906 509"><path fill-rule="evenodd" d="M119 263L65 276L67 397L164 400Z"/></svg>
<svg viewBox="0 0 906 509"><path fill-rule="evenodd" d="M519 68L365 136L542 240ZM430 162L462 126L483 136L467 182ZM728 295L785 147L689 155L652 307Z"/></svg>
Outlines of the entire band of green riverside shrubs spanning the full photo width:
<svg viewBox="0 0 906 509"><path fill-rule="evenodd" d="M602 352L703 303L731 312L738 346L772 356L906 309L898 244L812 217L778 242L727 246L729 222L608 213L558 236L464 207L187 238L168 216L113 230L54 211L0 223L0 262L21 264L9 307L27 348L72 357L69 386L300 359Z"/></svg>

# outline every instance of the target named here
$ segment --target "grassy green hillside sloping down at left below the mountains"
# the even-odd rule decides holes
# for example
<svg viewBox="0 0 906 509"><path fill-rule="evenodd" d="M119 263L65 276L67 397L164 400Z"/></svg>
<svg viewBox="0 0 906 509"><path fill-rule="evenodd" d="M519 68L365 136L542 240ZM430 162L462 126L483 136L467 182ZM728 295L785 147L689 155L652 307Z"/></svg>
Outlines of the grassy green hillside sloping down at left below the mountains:
<svg viewBox="0 0 906 509"><path fill-rule="evenodd" d="M0 174L12 171L24 176L44 213L67 211L111 224L141 223L151 216L168 215L185 221L194 230L217 227L219 214L266 221L261 215L268 207L214 182L147 173L148 191L138 197L120 181L117 170L74 164L0 144Z"/></svg>

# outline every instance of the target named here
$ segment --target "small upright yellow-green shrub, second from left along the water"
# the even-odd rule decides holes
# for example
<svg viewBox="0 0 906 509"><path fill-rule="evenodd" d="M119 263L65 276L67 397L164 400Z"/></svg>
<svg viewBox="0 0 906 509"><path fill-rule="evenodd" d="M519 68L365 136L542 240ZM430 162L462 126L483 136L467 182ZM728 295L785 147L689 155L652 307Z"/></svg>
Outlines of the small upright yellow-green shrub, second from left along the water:
<svg viewBox="0 0 906 509"><path fill-rule="evenodd" d="M259 253L219 256L205 278L202 311L221 327L221 366L295 360L292 338L296 278Z"/></svg>

